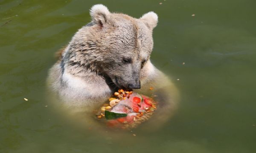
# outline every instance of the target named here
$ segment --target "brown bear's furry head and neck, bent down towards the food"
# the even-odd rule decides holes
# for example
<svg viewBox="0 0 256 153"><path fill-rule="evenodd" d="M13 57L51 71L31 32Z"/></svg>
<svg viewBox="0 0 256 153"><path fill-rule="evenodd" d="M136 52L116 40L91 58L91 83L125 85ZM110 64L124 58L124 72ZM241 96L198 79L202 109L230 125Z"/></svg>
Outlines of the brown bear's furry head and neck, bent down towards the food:
<svg viewBox="0 0 256 153"><path fill-rule="evenodd" d="M79 29L68 46L68 65L103 74L118 88L140 88L140 72L153 48L157 14L148 12L136 19L98 4L90 9L90 16L91 23Z"/></svg>

